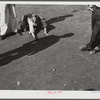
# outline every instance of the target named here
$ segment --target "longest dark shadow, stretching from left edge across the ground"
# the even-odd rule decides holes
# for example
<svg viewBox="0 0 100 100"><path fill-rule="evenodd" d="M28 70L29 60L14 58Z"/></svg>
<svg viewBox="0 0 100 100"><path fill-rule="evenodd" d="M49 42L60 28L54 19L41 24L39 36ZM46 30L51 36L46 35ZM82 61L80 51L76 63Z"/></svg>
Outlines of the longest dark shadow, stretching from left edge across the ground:
<svg viewBox="0 0 100 100"><path fill-rule="evenodd" d="M24 44L22 47L16 48L12 51L0 54L0 66L6 65L13 60L19 59L25 55L33 55L42 51L53 44L57 43L61 38L67 38L73 36L74 33L68 33L61 36L47 36L39 39L38 41L31 41Z"/></svg>

